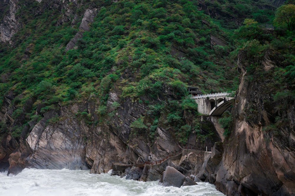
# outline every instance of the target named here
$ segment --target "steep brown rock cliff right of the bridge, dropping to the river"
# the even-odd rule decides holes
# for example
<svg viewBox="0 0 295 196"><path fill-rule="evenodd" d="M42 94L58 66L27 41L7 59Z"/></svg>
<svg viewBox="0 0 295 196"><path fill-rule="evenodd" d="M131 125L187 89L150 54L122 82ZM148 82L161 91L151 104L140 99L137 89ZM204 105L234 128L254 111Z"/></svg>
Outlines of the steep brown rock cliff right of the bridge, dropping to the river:
<svg viewBox="0 0 295 196"><path fill-rule="evenodd" d="M217 148L223 151L222 158L212 163L212 154L200 173L201 179L214 183L226 195L295 194L294 104L286 111L286 126L273 131L263 129L273 123L278 109L268 88L273 82L274 63L265 56L261 64L270 77L254 73L249 80L246 68L250 65L240 53L242 76L233 108L232 133L223 147Z"/></svg>

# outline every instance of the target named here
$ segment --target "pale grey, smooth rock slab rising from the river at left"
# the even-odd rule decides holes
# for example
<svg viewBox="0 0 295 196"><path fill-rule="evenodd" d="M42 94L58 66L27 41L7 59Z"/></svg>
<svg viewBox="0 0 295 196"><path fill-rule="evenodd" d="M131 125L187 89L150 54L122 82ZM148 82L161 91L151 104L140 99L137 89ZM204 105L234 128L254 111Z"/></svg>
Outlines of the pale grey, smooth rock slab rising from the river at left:
<svg viewBox="0 0 295 196"><path fill-rule="evenodd" d="M46 127L37 123L27 138L32 149L28 163L37 169L89 169L86 143L80 135L81 129L71 119Z"/></svg>

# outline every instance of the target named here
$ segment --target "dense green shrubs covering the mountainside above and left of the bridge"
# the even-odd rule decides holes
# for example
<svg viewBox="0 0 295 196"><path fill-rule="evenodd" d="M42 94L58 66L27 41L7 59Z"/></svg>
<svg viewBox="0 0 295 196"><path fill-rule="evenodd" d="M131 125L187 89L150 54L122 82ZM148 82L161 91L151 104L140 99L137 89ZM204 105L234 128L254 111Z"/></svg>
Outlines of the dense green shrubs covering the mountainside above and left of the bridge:
<svg viewBox="0 0 295 196"><path fill-rule="evenodd" d="M147 113L153 113L153 119L142 117L132 123L130 127L135 132L148 129L153 138L155 126L164 113L167 126L173 126L180 138L185 138L186 131L190 130L185 126L197 115L196 105L186 99L186 87L199 86L204 93L235 91L238 85L236 56L232 52L236 51L235 44L245 42L244 48L250 49L253 44L261 45L252 40L256 31L254 37L246 35L249 40L245 40L240 30L237 33L240 42L236 43L233 29L238 27L239 21L230 17L240 21L252 17L260 23L271 23L274 13L272 6L260 9L266 5L260 1L247 4L226 0L81 3L78 8L68 5L80 16L77 21L81 21L86 7L98 7L99 11L90 31L83 33L75 48L64 54L66 44L78 32L80 23L73 27L71 21L60 23L66 10L45 1L40 4L34 0L19 1L17 17L24 24L23 28L14 35L14 45L2 44L0 53L0 105L4 96L12 93L15 96L12 118L24 116L12 128L16 137L22 125L40 119L35 111L41 103L43 114L57 110L60 104L79 102L91 94L100 104L96 123L104 123L106 100L109 92L115 89L122 100L145 101L150 108ZM215 13L216 17L212 19L210 13ZM260 29L247 24L243 28L250 32L251 28ZM212 38L220 40L222 45L211 44ZM172 93L167 93L167 89ZM143 96L150 99L150 104L148 100L141 100ZM168 97L173 100L168 101L171 99ZM30 99L34 103L27 110L23 106ZM158 99L166 101L153 101ZM81 116L87 117L85 113L81 111Z"/></svg>

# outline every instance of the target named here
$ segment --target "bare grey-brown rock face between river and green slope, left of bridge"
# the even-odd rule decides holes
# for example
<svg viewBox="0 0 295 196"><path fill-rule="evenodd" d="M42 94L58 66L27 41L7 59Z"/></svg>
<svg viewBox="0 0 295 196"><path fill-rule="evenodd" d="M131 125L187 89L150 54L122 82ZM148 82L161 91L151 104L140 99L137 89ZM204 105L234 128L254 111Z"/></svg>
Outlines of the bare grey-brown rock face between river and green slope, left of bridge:
<svg viewBox="0 0 295 196"><path fill-rule="evenodd" d="M173 100L174 95L167 88L162 89L167 99ZM184 145L193 148L186 151L178 160L177 167L184 175L197 175L204 162L204 153L196 153L194 149L200 146L213 146L214 142L222 139L216 132L212 140L205 140L202 145L197 141L196 133L191 133L187 144L181 144L174 135L174 129L165 126L166 116L160 118L155 130L155 139L149 139L148 132L132 133L132 122L145 116L148 105L139 99L122 98L119 89L109 92L106 108L109 118L103 122L93 123L98 119L96 110L100 101L95 95L73 102L68 106L42 113L41 108L46 106L40 103L36 115L42 115L41 120L32 119L22 131L21 139L14 140L10 135L3 137L0 155L3 158L1 169L9 167L9 173L17 174L25 167L39 169L91 169L91 173L108 172L114 163L130 163L145 161L160 161L171 155L183 152ZM164 97L142 100L162 102ZM0 117L7 126L22 126L23 116L12 118L15 110L15 95L10 92L6 95L2 105ZM35 98L31 98L23 107L26 113L32 109ZM113 105L116 104L116 109ZM83 112L82 112L83 111ZM201 126L204 132L214 128L209 120L204 120ZM165 170L148 170L142 177L145 180L158 180ZM144 180L144 181L145 181Z"/></svg>

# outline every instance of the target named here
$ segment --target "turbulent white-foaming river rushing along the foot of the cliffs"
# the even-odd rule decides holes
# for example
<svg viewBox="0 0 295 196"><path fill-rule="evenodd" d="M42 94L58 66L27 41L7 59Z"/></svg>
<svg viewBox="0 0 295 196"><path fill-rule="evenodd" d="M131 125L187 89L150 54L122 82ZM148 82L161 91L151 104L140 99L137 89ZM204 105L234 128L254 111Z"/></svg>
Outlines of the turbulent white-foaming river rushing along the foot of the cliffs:
<svg viewBox="0 0 295 196"><path fill-rule="evenodd" d="M163 187L158 181L139 182L107 174L89 174L89 170L24 169L18 175L0 173L0 195L9 196L193 196L223 195L214 185Z"/></svg>

